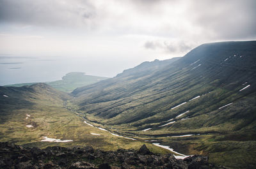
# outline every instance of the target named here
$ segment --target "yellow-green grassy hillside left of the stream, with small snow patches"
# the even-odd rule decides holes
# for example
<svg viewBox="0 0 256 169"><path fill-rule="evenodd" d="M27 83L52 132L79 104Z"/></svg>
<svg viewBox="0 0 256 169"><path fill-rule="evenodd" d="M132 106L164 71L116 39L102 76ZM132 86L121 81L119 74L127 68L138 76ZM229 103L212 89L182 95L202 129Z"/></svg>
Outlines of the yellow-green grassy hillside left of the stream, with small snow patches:
<svg viewBox="0 0 256 169"><path fill-rule="evenodd" d="M53 145L92 145L107 151L139 149L143 145L140 140L114 136L108 131L85 124L76 112L67 110L66 103L71 98L69 94L47 84L0 87L0 142L42 148ZM41 142L44 136L73 142ZM153 152L167 152L152 144L147 146Z"/></svg>

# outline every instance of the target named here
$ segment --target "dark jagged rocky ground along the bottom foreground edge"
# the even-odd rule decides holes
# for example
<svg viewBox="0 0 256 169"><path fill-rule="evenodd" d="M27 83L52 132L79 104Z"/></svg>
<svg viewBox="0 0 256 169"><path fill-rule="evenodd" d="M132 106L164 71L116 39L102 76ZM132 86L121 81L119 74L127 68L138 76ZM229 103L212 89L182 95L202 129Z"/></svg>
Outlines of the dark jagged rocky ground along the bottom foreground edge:
<svg viewBox="0 0 256 169"><path fill-rule="evenodd" d="M86 147L25 148L0 142L0 168L224 168L208 163L206 156L175 159L172 154L154 154L146 145L133 149L101 151Z"/></svg>

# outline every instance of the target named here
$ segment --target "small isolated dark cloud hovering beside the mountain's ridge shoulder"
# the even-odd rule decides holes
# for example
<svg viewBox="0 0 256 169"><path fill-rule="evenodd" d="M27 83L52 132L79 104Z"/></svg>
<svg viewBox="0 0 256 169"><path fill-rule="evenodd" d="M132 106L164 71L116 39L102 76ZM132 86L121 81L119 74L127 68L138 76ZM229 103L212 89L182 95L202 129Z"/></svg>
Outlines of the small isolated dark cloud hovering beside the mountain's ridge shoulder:
<svg viewBox="0 0 256 169"><path fill-rule="evenodd" d="M168 53L184 53L191 50L193 45L186 43L184 41L161 41L161 40L153 40L153 41L146 41L144 43L144 47L151 50L162 50Z"/></svg>

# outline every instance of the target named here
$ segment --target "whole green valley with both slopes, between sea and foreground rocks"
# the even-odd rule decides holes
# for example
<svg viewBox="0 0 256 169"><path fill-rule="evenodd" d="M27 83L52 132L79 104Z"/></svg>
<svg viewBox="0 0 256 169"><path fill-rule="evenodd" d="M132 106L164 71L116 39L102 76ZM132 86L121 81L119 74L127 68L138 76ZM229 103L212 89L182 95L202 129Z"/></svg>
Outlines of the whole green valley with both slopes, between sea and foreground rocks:
<svg viewBox="0 0 256 169"><path fill-rule="evenodd" d="M255 58L256 41L207 43L70 93L61 83L0 87L0 141L104 151L145 143L154 153L253 168Z"/></svg>

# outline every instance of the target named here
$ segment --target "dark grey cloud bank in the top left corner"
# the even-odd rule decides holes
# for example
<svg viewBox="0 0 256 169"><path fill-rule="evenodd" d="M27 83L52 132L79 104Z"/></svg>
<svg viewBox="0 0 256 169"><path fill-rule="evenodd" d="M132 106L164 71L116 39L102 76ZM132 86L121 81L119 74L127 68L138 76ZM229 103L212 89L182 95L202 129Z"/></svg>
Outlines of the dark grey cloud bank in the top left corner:
<svg viewBox="0 0 256 169"><path fill-rule="evenodd" d="M88 18L95 16L95 8L88 1L70 2L0 0L0 22L36 26L77 26L88 24Z"/></svg>

